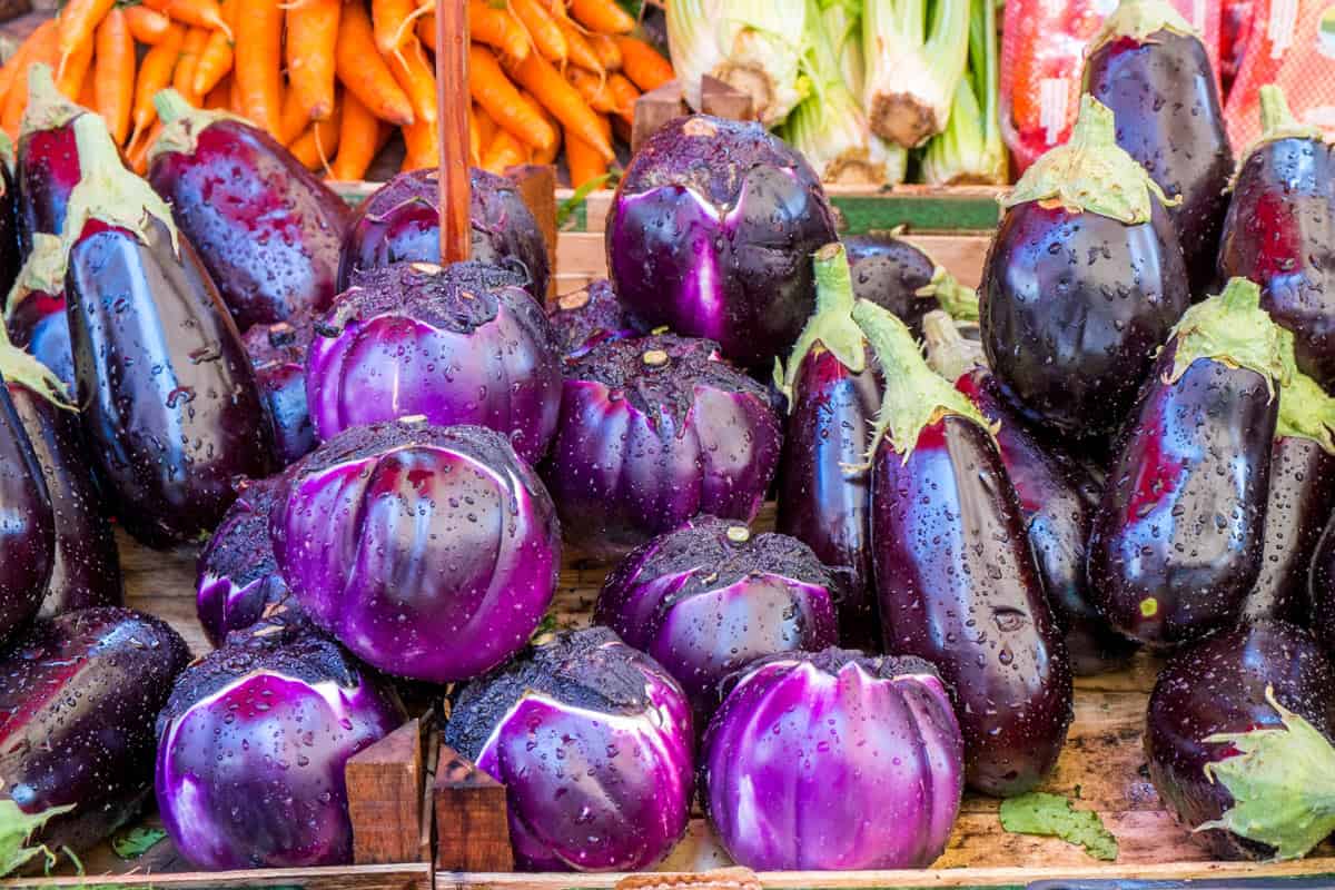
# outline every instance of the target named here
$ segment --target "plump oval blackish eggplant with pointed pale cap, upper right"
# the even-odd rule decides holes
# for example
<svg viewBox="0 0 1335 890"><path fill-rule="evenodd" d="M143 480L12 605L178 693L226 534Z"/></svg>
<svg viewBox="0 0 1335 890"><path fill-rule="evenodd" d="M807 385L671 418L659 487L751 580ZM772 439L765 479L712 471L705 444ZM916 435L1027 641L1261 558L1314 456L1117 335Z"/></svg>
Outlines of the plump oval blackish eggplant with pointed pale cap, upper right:
<svg viewBox="0 0 1335 890"><path fill-rule="evenodd" d="M1125 416L1189 304L1165 200L1089 96L1071 141L1004 199L983 267L983 346L1027 416L1081 438Z"/></svg>

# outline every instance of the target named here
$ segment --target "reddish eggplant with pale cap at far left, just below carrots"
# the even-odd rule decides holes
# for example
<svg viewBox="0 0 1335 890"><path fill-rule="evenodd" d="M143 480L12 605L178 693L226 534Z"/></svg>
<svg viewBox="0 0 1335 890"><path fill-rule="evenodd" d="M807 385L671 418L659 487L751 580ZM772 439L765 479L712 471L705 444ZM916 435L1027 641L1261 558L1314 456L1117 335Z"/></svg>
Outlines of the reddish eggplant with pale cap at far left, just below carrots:
<svg viewBox="0 0 1335 890"><path fill-rule="evenodd" d="M69 193L83 179L73 121L87 109L56 89L51 68L28 69L28 108L19 132L15 179L19 185L19 247L32 252L33 234L60 235ZM15 84L21 89L23 84Z"/></svg>

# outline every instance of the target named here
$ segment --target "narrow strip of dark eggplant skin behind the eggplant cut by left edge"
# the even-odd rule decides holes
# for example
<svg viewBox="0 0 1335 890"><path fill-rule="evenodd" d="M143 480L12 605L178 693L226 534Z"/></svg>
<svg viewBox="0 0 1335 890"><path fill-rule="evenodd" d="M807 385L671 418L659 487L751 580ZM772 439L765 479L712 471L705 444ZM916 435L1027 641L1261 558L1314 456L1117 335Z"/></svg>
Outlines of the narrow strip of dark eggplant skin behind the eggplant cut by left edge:
<svg viewBox="0 0 1335 890"><path fill-rule="evenodd" d="M120 555L92 478L79 415L20 383L9 383L8 388L37 458L55 520L51 580L37 616L123 604Z"/></svg>

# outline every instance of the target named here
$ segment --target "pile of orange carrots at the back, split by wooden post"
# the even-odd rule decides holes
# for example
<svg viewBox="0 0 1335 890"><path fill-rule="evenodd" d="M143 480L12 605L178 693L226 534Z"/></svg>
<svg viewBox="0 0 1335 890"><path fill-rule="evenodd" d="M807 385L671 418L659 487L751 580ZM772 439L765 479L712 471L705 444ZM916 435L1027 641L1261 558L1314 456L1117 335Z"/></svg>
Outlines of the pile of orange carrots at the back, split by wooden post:
<svg viewBox="0 0 1335 890"><path fill-rule="evenodd" d="M435 0L68 0L0 67L0 127L19 135L28 68L49 64L140 171L160 129L152 97L264 128L307 167L362 179L395 129L403 168L438 163ZM617 0L469 0L473 163L607 172L641 91L672 65Z"/></svg>

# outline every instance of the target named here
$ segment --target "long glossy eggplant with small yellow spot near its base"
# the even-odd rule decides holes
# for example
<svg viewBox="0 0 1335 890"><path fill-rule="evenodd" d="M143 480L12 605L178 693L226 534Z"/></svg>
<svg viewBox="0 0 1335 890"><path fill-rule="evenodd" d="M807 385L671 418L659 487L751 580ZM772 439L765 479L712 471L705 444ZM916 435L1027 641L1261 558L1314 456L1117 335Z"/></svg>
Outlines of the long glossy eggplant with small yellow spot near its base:
<svg viewBox="0 0 1335 890"><path fill-rule="evenodd" d="M1260 290L1232 279L1173 328L1121 431L1089 539L1099 610L1173 646L1227 627L1262 567L1286 378Z"/></svg>

